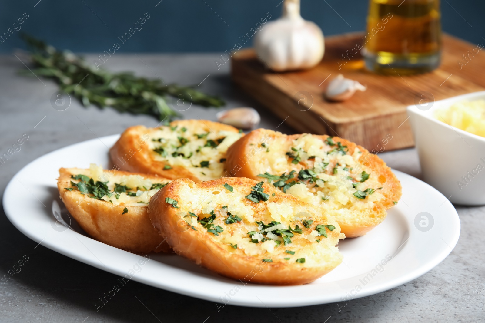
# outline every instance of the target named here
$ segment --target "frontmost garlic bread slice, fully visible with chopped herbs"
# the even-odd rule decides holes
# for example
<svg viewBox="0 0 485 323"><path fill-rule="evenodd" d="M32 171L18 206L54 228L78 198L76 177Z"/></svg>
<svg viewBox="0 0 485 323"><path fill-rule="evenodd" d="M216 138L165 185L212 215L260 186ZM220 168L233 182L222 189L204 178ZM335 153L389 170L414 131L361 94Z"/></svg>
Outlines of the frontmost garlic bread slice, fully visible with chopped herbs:
<svg viewBox="0 0 485 323"><path fill-rule="evenodd" d="M336 245L344 235L333 218L247 178L174 180L148 212L176 253L243 282L306 284L342 258Z"/></svg>

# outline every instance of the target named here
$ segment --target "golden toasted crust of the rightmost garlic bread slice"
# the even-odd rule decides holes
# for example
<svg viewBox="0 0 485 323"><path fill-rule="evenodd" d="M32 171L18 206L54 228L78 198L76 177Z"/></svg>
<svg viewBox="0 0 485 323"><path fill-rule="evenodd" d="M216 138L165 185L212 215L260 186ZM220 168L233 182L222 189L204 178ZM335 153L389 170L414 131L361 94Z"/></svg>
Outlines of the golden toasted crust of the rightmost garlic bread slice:
<svg viewBox="0 0 485 323"><path fill-rule="evenodd" d="M300 138L303 135L305 134L287 136L272 130L256 129L240 138L229 147L226 153L226 172L231 176L247 177L267 182L264 178L257 176L260 173L264 173L265 170L258 169L255 166L257 160L264 158L264 155L262 155L264 149L258 149L261 143L271 143L275 138L279 138L282 139L283 145L288 145L288 147L290 147L294 139ZM329 137L327 135L311 136L320 138L323 141ZM369 168L369 172L372 173L372 176L378 177L381 186L383 186L383 188L379 190L379 193L384 196L384 199L381 199L378 203L372 205L372 208L366 210L366 212L361 214L362 216L358 219L351 216L335 215L341 231L345 233L346 237L358 237L372 230L376 225L384 221L387 215L386 210L394 206L394 201L399 201L401 198L401 184L394 173L392 173L391 169L378 156L369 153L364 147L356 145L346 139L333 137L333 140L347 146L349 154L354 154L356 148L358 148L360 152L362 152L358 159L359 163L366 168ZM298 169L305 169L305 164L299 163L294 166L294 168L297 169L297 171ZM322 208L325 208L324 204Z"/></svg>

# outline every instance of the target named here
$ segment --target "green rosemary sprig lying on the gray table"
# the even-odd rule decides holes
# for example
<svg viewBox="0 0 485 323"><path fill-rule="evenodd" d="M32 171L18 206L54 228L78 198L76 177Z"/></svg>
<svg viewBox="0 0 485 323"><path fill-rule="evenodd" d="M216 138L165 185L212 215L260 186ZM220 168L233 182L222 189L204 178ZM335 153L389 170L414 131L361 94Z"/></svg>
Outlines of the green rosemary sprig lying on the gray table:
<svg viewBox="0 0 485 323"><path fill-rule="evenodd" d="M85 107L90 104L99 108L112 107L120 112L148 114L163 120L166 117L173 119L179 116L167 105L166 95L177 100L183 99L186 101L185 104L189 105L225 105L219 97L196 91L191 87L164 85L160 79L135 77L130 72L110 73L96 69L70 51L56 50L26 34L23 34L22 38L27 43L32 62L36 66L32 72L37 76L54 79L61 90L74 94Z"/></svg>

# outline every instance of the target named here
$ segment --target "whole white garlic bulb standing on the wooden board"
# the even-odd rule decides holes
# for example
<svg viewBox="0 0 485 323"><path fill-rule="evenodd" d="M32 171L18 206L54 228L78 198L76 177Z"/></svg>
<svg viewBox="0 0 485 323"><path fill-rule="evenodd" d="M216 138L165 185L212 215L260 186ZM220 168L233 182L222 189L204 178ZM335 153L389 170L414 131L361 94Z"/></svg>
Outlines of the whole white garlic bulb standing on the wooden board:
<svg viewBox="0 0 485 323"><path fill-rule="evenodd" d="M300 15L300 0L285 0L283 15L255 35L259 59L275 72L311 68L323 57L322 30Z"/></svg>

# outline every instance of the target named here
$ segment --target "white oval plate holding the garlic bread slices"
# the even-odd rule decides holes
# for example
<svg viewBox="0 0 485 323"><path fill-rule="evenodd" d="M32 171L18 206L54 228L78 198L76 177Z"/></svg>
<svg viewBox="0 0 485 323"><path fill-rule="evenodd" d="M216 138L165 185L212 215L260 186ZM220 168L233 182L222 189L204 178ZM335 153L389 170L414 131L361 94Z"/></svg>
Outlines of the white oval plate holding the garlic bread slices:
<svg viewBox="0 0 485 323"><path fill-rule="evenodd" d="M219 302L221 306L228 303L253 307L331 302L340 302L343 307L344 301L386 291L420 277L445 259L460 235L458 215L441 193L395 171L403 185L402 200L367 235L341 241L344 262L311 284L244 285L174 254L153 253L148 255L150 260L141 261L142 256L93 240L74 222L70 223L57 192L59 168L88 168L89 163L108 167L108 147L117 138L119 135L71 145L37 158L20 170L3 196L3 208L10 221L42 246L113 274L132 276L131 279L147 285ZM67 226L56 223L53 214L59 216L59 212ZM427 226L422 215L428 219Z"/></svg>

